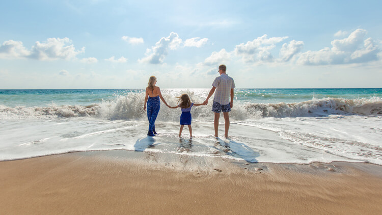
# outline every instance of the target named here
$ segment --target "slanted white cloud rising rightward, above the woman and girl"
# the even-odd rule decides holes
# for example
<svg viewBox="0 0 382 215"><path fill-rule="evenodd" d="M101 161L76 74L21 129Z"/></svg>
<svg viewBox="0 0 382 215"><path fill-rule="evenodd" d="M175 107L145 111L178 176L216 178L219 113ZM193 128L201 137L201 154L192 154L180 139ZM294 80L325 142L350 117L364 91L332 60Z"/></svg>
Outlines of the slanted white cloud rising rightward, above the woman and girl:
<svg viewBox="0 0 382 215"><path fill-rule="evenodd" d="M178 34L171 32L168 37L162 37L155 46L151 49L146 50L146 58L139 59L138 62L148 62L151 64L161 64L163 60L169 53L170 50L177 49L182 43L182 39L179 38Z"/></svg>

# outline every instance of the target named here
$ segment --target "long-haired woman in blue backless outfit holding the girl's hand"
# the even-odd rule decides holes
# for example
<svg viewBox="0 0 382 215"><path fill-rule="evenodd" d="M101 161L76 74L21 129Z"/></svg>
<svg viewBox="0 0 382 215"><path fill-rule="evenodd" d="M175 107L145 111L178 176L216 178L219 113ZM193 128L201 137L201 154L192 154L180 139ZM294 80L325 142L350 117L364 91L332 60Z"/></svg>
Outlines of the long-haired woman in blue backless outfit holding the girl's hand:
<svg viewBox="0 0 382 215"><path fill-rule="evenodd" d="M155 120L158 116L160 109L160 101L159 98L169 106L162 94L160 93L159 87L155 86L156 77L151 76L149 79L149 86L146 88L146 96L145 96L145 105L144 110L146 111L146 103L147 103L147 118L149 119L149 132L148 136L155 136L157 133L155 132Z"/></svg>

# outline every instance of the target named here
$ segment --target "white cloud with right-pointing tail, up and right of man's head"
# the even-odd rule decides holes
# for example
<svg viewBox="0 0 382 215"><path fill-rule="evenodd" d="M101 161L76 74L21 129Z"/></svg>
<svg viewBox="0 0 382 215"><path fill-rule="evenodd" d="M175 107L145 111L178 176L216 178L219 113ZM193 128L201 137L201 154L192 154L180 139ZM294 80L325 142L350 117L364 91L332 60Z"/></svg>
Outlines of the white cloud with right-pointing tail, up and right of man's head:
<svg viewBox="0 0 382 215"><path fill-rule="evenodd" d="M271 62L274 57L270 50L275 48L277 43L287 39L288 37L271 37L266 34L261 37L236 45L234 50L237 56L240 56L244 62Z"/></svg>

